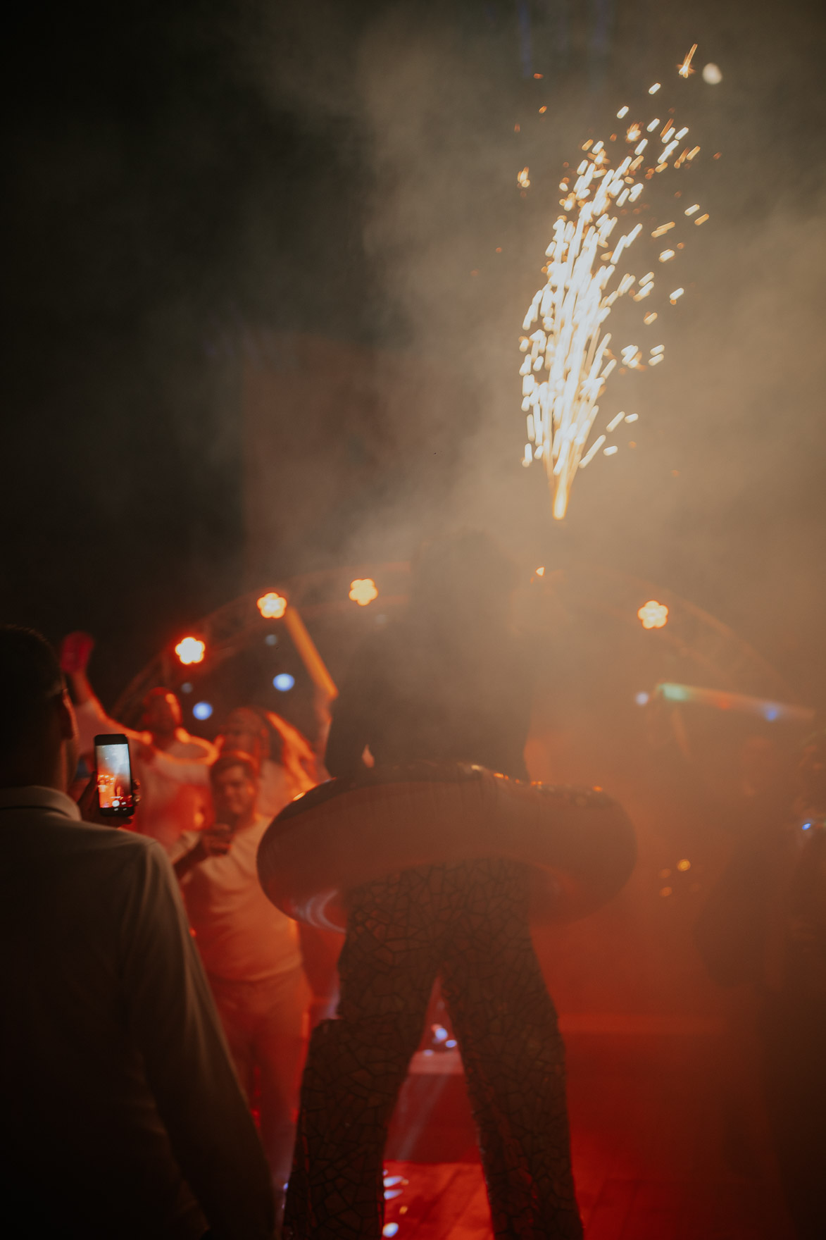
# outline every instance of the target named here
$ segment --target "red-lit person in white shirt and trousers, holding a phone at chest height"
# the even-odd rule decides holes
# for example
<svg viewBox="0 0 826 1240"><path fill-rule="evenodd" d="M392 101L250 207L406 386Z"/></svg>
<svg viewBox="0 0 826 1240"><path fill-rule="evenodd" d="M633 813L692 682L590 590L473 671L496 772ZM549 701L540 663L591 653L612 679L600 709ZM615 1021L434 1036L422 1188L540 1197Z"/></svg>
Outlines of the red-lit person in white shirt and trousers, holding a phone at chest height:
<svg viewBox="0 0 826 1240"><path fill-rule="evenodd" d="M298 925L258 882L258 844L270 821L257 812L258 768L248 754L224 751L211 775L216 825L181 837L175 872L241 1083L258 1105L279 1197L293 1157L311 992Z"/></svg>

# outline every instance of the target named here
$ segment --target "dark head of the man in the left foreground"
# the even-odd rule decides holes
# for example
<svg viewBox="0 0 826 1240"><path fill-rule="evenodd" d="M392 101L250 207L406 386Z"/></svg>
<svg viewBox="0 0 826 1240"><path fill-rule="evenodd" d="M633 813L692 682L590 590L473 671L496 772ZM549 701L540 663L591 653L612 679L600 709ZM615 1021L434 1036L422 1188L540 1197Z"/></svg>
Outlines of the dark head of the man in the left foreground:
<svg viewBox="0 0 826 1240"><path fill-rule="evenodd" d="M76 764L74 713L55 651L31 629L0 627L0 786L66 791Z"/></svg>

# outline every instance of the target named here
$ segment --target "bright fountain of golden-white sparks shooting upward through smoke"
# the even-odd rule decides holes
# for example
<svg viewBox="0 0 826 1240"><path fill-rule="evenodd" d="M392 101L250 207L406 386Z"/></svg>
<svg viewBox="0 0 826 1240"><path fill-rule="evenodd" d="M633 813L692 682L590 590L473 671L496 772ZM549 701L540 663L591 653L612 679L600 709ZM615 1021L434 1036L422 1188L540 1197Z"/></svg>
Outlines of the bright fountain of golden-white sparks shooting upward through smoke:
<svg viewBox="0 0 826 1240"><path fill-rule="evenodd" d="M695 45L677 67L683 79L693 73L691 61L696 51ZM647 94L659 94L659 91L660 84L655 83ZM652 108L654 100L640 107ZM616 141L619 148L615 165L609 159L605 141L589 139L583 143L583 159L575 177L563 177L559 186L564 193L559 200L562 213L557 217L553 241L546 250L547 265L542 268L547 283L535 294L522 324L527 332L520 337L523 355L520 367L522 412L527 417L522 464L527 466L542 460L557 520L566 515L577 471L593 460L605 444L606 435L623 420L623 415L613 417L604 433L588 445L599 414L598 401L611 372L618 366L620 373L644 371L664 361L662 345L649 348L647 362L636 345L618 347L616 356L609 348L611 336L603 330L603 325L616 300L629 294L634 303L642 301L655 290L654 270L639 280L623 270L625 252L640 234L650 246L650 238L668 233L671 246L667 249L656 247L652 257L654 264L670 263L678 259L678 252L685 248L680 228L708 218L708 215L691 218L699 210L699 203L696 203L678 212L680 223L666 215L662 223L651 228L656 223L651 219L644 228L640 219L615 236L620 215L640 216L649 210L650 203L641 196L655 174L670 165L673 169L690 167L699 153L698 146L688 149L683 145L688 129L681 126L677 131L677 122L672 119L662 122L660 133L656 133L660 118L673 117L673 108L666 112L662 108L661 100L655 117L640 120L629 117L628 105L619 109L616 117L629 119L624 133L620 130L610 135L610 144ZM521 186L530 185L527 172L523 169L518 174ZM671 212L675 208L667 210ZM683 291L682 288L675 289L667 301L676 305ZM640 310L641 326L650 327L657 319L656 310L649 303ZM636 420L636 414L625 420ZM616 451L613 444L603 448L605 456Z"/></svg>

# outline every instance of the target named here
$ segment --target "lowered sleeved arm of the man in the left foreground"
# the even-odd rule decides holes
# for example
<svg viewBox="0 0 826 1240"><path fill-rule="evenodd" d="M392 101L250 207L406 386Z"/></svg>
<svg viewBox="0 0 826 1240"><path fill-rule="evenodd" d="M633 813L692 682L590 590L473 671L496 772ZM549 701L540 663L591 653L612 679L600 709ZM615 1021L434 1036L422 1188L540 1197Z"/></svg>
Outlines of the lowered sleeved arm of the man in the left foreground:
<svg viewBox="0 0 826 1240"><path fill-rule="evenodd" d="M169 861L136 862L122 919L128 1021L175 1157L216 1240L274 1230L269 1169L241 1092Z"/></svg>

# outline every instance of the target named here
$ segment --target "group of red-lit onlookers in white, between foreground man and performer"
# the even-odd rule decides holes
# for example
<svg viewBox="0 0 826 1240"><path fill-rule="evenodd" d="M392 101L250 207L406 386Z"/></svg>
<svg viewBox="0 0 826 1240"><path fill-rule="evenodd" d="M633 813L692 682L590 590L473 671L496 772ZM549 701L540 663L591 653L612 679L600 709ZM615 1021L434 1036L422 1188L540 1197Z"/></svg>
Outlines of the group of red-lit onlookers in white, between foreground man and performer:
<svg viewBox="0 0 826 1240"><path fill-rule="evenodd" d="M156 839L172 863L280 1199L309 1032L335 1007L339 942L267 899L257 854L279 811L326 777L324 754L258 707L232 711L212 744L184 728L180 702L162 686L143 701L141 730L125 727L89 682L93 646L91 635L73 632L60 651L78 725L78 784L94 770L95 735L128 738L139 789L129 827Z"/></svg>

